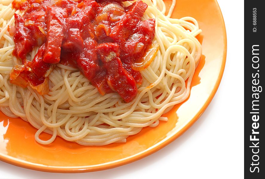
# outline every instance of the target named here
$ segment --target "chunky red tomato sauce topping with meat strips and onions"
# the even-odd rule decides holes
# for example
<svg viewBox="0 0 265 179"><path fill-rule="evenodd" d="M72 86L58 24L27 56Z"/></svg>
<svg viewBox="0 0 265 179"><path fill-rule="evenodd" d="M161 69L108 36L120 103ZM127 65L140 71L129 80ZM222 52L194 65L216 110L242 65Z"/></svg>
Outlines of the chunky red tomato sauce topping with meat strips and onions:
<svg viewBox="0 0 265 179"><path fill-rule="evenodd" d="M40 94L48 89L48 75L61 63L77 67L104 95L112 91L126 102L142 83L132 64L139 62L152 44L155 20L141 18L147 4L141 0L125 7L124 0L14 0L13 54L22 60L10 73L10 82L30 85ZM28 53L39 47L33 61Z"/></svg>

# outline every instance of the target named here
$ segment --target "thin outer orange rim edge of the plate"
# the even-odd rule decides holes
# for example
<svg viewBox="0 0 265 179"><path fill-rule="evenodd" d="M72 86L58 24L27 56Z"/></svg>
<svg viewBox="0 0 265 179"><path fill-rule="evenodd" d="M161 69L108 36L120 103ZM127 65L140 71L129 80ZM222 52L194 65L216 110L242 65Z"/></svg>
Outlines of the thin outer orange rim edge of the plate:
<svg viewBox="0 0 265 179"><path fill-rule="evenodd" d="M182 127L182 129L180 129L178 132L176 132L170 138L166 139L165 141L162 140L159 143L156 143L155 145L149 147L148 149L146 149L142 152L139 152L135 155L131 155L127 158L122 158L122 159L119 159L116 161L107 162L107 163L103 163L103 164L97 164L97 165L70 166L70 167L67 167L67 166L46 166L46 165L42 165L42 164L38 164L38 163L32 163L32 162L24 161L22 159L11 157L9 155L4 155L2 153L0 153L0 160L3 162L9 163L9 164L15 165L15 166L19 166L19 167L26 168L26 169L42 171L42 172L53 172L53 173L96 172L96 171L101 171L101 170L106 170L106 169L112 169L112 168L115 168L118 166L123 166L123 165L126 165L128 163L132 163L134 161L138 161L142 158L145 158L145 157L159 151L160 149L164 148L168 144L175 141L184 132L186 132L199 119L200 115L202 115L202 113L206 110L208 105L211 103L214 95L216 94L218 87L221 83L222 77L223 77L223 73L224 73L224 69L225 69L225 65L226 65L226 55L227 55L227 34L226 34L226 26L225 26L225 22L223 19L223 14L222 14L222 11L220 9L220 6L219 6L217 0L214 0L214 3L216 4L216 7L217 7L218 11L220 12L220 15L222 18L221 24L223 27L222 30L223 30L223 34L224 34L224 51L223 51L223 60L222 60L221 68L220 68L220 73L218 75L218 78L217 78L217 81L214 85L214 88L211 91L210 96L208 97L208 99L206 100L204 105L201 107L199 112L197 112L197 114L188 122L188 124L186 124L184 127Z"/></svg>

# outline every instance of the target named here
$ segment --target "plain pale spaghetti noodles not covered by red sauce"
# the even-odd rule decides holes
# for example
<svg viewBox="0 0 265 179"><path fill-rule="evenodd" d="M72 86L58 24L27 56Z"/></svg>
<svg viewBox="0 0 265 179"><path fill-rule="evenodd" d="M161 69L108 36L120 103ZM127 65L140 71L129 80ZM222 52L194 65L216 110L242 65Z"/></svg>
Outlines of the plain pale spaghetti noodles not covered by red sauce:
<svg viewBox="0 0 265 179"><path fill-rule="evenodd" d="M161 116L189 96L202 54L195 37L201 30L194 18L170 18L174 0L167 15L162 0L143 1L148 8L142 19L156 20L153 43L159 44L159 51L150 66L140 71L142 84L136 97L126 103L117 92L101 95L80 70L63 64L56 64L49 74L48 94L11 84L10 71L21 61L12 55L15 43L7 28L14 24L14 14L22 16L23 11L15 10L12 0L0 0L0 110L37 128L35 139L41 144L52 143L57 135L87 146L126 142L143 127L167 121ZM31 59L37 52L38 48L30 52ZM51 138L40 139L42 132Z"/></svg>

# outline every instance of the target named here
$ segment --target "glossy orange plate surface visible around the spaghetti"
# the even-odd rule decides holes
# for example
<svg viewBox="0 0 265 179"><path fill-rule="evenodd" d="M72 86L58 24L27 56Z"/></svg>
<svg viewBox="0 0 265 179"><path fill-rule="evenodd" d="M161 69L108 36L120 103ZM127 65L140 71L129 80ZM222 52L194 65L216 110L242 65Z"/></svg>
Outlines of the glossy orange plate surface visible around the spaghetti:
<svg viewBox="0 0 265 179"><path fill-rule="evenodd" d="M165 0L167 7L171 3ZM150 155L185 132L206 109L220 84L226 62L226 29L215 0L177 0L173 18L197 19L202 34L202 59L191 95L167 113L168 122L146 127L127 143L80 146L60 137L50 145L34 140L36 129L20 118L0 114L0 159L16 166L46 172L92 172L121 166ZM43 134L42 137L49 137Z"/></svg>

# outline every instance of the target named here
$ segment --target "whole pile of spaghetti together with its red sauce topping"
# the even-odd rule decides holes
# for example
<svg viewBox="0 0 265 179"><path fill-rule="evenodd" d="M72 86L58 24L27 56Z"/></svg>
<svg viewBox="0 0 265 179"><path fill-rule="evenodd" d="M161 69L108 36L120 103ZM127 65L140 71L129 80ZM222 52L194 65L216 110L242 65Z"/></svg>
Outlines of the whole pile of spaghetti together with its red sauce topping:
<svg viewBox="0 0 265 179"><path fill-rule="evenodd" d="M175 4L165 15L162 0L0 0L0 110L41 144L126 142L167 121L202 54L197 21L170 18Z"/></svg>

